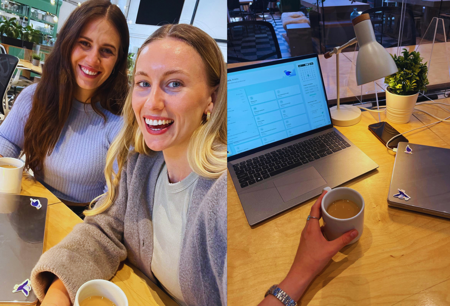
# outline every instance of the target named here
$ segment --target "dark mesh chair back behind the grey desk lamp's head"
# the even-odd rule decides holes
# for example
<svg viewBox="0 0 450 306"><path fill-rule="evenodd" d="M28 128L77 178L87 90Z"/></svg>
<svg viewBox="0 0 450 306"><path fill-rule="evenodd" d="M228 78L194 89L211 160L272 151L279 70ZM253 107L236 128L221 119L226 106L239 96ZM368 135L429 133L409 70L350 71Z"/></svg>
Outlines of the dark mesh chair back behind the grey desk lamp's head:
<svg viewBox="0 0 450 306"><path fill-rule="evenodd" d="M405 9L405 16L401 20L401 10L401 7L397 6L381 6L367 9L363 12L363 14L369 14L374 26L375 37L378 43L385 48L397 46L401 24L403 24L403 32L400 33L400 45L416 44L416 27L413 11Z"/></svg>

